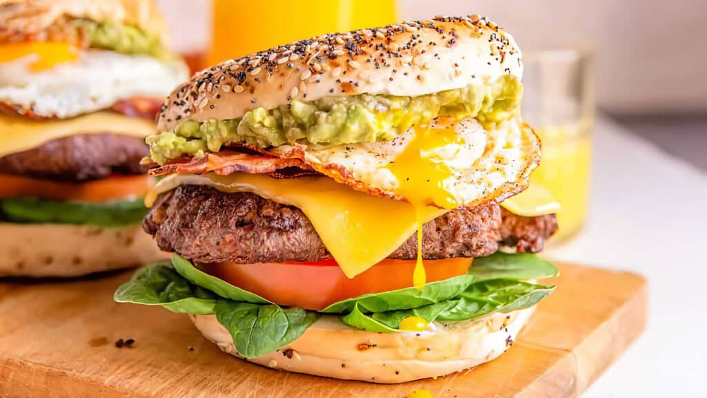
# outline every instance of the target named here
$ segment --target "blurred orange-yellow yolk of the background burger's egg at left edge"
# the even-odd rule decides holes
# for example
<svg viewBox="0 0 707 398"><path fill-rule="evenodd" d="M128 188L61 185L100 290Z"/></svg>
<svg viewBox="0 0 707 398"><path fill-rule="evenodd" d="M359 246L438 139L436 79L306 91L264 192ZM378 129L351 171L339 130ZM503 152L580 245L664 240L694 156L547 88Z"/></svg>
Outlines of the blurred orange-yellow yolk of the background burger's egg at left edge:
<svg viewBox="0 0 707 398"><path fill-rule="evenodd" d="M8 42L0 44L0 64L24 57L35 57L29 64L33 72L51 69L62 62L78 59L78 50L66 42Z"/></svg>

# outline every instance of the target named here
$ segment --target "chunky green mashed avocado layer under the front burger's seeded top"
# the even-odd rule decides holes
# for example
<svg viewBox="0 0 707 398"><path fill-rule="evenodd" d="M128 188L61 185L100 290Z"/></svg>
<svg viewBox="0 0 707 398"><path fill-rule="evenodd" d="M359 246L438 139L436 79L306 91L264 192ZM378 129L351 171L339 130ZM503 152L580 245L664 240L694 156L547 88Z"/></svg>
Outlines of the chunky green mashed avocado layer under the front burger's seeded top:
<svg viewBox="0 0 707 398"><path fill-rule="evenodd" d="M201 157L233 142L275 147L296 142L353 144L390 140L411 125L438 116L478 118L482 123L507 120L520 105L522 85L506 75L491 84L417 97L329 96L317 101L293 100L274 109L255 108L243 118L188 120L173 132L147 137L152 159L164 164L177 157Z"/></svg>

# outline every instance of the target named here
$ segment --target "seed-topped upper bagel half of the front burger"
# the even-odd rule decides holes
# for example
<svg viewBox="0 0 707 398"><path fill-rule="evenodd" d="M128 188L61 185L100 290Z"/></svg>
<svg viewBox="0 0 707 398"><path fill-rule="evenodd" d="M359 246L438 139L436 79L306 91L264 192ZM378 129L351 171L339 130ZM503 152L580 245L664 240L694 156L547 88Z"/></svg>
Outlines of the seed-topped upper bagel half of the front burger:
<svg viewBox="0 0 707 398"><path fill-rule="evenodd" d="M421 96L522 75L513 38L477 15L322 35L204 69L170 95L158 131L234 119L292 99Z"/></svg>

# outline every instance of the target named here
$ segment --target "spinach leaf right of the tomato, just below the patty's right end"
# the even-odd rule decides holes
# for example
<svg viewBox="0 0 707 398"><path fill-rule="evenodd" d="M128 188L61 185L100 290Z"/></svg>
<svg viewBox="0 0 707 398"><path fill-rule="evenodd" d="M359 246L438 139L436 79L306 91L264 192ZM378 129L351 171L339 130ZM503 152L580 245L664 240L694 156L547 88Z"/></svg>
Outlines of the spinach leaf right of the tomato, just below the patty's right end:
<svg viewBox="0 0 707 398"><path fill-rule="evenodd" d="M534 254L500 251L491 256L474 258L468 272L474 275L474 281L496 278L535 280L559 275L553 263Z"/></svg>

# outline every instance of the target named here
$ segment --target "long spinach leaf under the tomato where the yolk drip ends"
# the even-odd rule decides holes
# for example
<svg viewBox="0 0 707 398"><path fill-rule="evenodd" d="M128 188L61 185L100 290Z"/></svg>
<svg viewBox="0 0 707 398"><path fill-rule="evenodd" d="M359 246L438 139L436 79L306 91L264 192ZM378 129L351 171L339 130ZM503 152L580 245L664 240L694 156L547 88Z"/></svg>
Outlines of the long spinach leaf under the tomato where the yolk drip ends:
<svg viewBox="0 0 707 398"><path fill-rule="evenodd" d="M472 275L460 275L454 278L427 283L422 290L405 288L390 292L361 295L335 302L320 312L346 314L358 307L361 312L386 312L397 309L423 307L457 297L472 283Z"/></svg>

